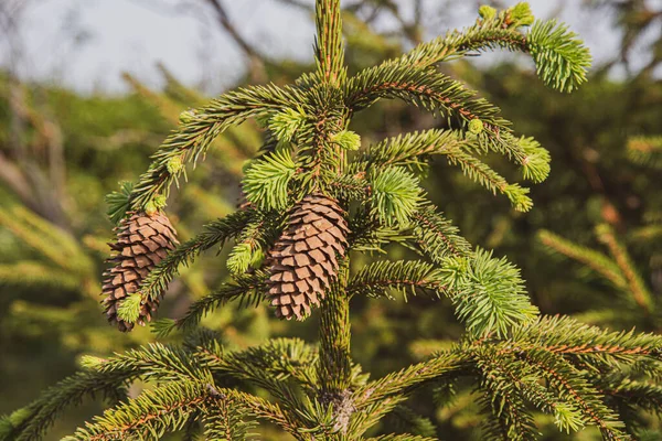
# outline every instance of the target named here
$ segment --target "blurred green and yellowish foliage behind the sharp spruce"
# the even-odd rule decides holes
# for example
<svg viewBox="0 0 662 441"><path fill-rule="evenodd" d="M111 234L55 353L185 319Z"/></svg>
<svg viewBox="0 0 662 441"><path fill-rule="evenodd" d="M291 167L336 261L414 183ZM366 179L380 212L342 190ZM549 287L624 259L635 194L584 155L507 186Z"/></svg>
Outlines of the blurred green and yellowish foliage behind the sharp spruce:
<svg viewBox="0 0 662 441"><path fill-rule="evenodd" d="M263 56L243 39L241 23L227 18L221 1L195 1L215 14L218 26L246 55L239 84L291 82L311 67ZM282 2L308 8L306 2ZM352 2L345 13L351 69L424 40L419 4ZM534 209L515 213L442 161L429 171L426 187L471 243L522 268L530 294L544 313L574 314L616 330L661 332L662 7L644 0L585 1L585 7L596 13L609 10L622 37L620 50L595 66L591 80L578 93L567 96L545 88L528 66L512 58L489 66L446 67L500 105L519 133L535 137L551 150L552 175L534 186ZM375 31L372 23L381 17L396 20L399 31ZM631 67L634 49L645 60L637 69ZM21 83L11 71L0 75L0 413L71 374L83 354L107 355L154 340L149 327L117 333L104 322L98 302L106 241L111 237L104 195L118 190L120 181L136 180L180 114L207 99L159 68L162 89L126 74L132 92L122 96ZM613 75L617 68L624 74ZM392 101L362 115L352 130L363 142L374 142L435 126L444 121ZM189 170L188 183L174 192L168 209L182 239L234 209L242 166L261 137L258 126L247 122L221 137L210 158ZM509 170L496 158L492 165ZM224 259L207 252L172 283L160 316L181 315L226 273ZM356 362L381 376L447 346L461 331L448 306L417 298L407 303L357 299L352 305ZM264 305L231 304L203 325L235 347L278 335L317 338L314 318L303 324L284 323ZM427 419L403 408L384 424L447 440L479 439L471 390L428 395L410 404ZM99 406L85 404L72 412L52 432L53 439L71 432ZM650 439L662 439L659 419L642 418ZM540 422L551 427L545 439L565 439L553 421ZM586 431L579 439L596 437ZM276 433L265 438L285 439Z"/></svg>

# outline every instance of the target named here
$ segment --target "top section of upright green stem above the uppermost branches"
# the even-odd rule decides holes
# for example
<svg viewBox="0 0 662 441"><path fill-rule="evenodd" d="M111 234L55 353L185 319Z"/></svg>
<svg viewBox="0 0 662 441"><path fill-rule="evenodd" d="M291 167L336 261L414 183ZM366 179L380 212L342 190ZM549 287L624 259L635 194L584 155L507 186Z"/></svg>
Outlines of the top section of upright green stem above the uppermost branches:
<svg viewBox="0 0 662 441"><path fill-rule="evenodd" d="M323 80L339 86L344 67L340 0L317 0L316 58Z"/></svg>

